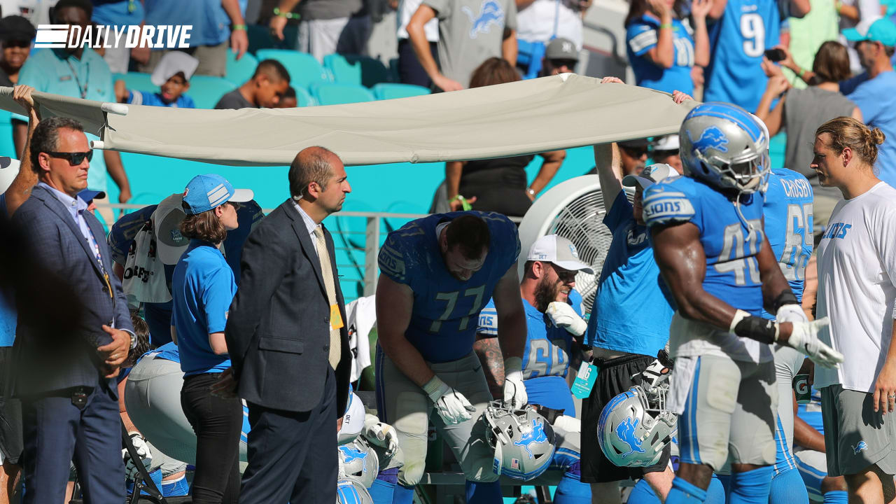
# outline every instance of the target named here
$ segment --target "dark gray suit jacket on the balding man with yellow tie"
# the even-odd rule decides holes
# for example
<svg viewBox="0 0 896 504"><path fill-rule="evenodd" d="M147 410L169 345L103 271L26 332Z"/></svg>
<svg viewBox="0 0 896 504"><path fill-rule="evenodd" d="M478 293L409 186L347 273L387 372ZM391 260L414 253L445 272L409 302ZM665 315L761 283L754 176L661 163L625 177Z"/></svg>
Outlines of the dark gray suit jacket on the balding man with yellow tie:
<svg viewBox="0 0 896 504"><path fill-rule="evenodd" d="M345 301L333 241L324 229L342 320ZM239 395L264 407L310 411L321 401L330 355L330 303L320 261L302 216L280 204L243 246L239 289L230 305L227 337ZM349 397L351 351L346 325L336 369L336 411Z"/></svg>

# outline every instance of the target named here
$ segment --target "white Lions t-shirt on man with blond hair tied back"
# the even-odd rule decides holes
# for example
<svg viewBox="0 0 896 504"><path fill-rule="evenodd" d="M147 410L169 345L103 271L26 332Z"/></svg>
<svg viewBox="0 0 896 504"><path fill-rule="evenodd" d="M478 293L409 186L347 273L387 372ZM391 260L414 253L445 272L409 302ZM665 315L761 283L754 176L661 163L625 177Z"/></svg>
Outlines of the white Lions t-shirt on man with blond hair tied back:
<svg viewBox="0 0 896 504"><path fill-rule="evenodd" d="M840 201L818 246L818 338L844 357L815 367L815 387L871 392L886 360L896 317L896 189L881 182Z"/></svg>

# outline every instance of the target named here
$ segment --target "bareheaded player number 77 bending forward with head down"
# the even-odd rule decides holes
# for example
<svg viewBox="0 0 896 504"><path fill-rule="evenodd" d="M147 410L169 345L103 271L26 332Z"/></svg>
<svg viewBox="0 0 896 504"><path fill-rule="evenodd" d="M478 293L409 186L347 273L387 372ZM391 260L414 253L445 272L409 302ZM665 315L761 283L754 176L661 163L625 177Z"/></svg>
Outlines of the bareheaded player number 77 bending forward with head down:
<svg viewBox="0 0 896 504"><path fill-rule="evenodd" d="M377 410L397 430L404 465L377 476L372 495L410 502L423 476L430 413L467 478L467 501L502 502L493 452L474 432L491 394L473 342L479 311L494 297L504 354L504 402L526 404L516 226L498 213L436 213L389 233L376 286ZM395 483L401 483L398 487ZM476 483L479 483L478 485ZM380 493L380 492L383 493Z"/></svg>

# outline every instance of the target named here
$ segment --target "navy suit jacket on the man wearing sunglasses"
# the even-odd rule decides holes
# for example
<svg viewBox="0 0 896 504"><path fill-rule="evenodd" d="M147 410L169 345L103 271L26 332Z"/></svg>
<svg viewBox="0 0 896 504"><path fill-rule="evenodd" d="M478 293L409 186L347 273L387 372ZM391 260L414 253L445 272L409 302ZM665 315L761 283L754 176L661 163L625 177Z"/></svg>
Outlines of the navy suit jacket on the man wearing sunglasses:
<svg viewBox="0 0 896 504"><path fill-rule="evenodd" d="M82 316L73 334L56 335L59 342L65 343L66 353L62 356L51 356L54 349L47 345L53 343L38 334L35 330L38 324L20 317L14 344L20 366L17 395L104 386L117 396L113 380L104 378L101 372L102 359L97 347L112 342L102 326L114 323L116 328L129 331L133 331L134 326L121 282L112 273L112 253L103 228L92 213L84 212L83 215L99 245L102 265L90 250L90 244L72 214L46 188L34 187L31 196L13 214L13 225L22 230L28 253L38 265L71 285L83 305ZM112 288L111 295L109 287ZM47 306L47 309L53 307Z"/></svg>

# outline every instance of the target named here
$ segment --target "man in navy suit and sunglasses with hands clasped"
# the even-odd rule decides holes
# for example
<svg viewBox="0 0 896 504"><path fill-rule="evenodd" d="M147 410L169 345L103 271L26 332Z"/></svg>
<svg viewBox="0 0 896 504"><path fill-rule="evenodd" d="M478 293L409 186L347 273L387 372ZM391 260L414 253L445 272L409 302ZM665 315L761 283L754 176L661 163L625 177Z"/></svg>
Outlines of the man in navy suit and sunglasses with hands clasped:
<svg viewBox="0 0 896 504"><path fill-rule="evenodd" d="M78 197L92 152L80 123L51 117L35 128L28 153L39 182L13 225L30 256L70 284L83 308L75 329L52 339L39 331L39 315L20 314L23 502L62 502L73 460L85 501L117 504L125 500L125 468L114 378L136 341L103 229Z"/></svg>

